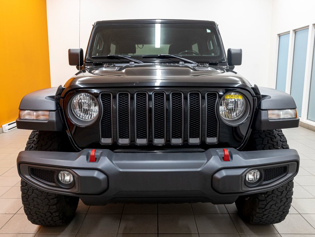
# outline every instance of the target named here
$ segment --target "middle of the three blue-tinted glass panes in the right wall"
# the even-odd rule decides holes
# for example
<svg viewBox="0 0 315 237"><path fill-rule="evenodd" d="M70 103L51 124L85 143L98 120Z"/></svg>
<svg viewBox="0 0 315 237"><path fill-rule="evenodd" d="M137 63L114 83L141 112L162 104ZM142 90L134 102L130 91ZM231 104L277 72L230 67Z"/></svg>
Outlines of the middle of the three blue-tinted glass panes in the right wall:
<svg viewBox="0 0 315 237"><path fill-rule="evenodd" d="M291 95L296 103L297 115L301 116L306 64L308 29L295 32Z"/></svg>

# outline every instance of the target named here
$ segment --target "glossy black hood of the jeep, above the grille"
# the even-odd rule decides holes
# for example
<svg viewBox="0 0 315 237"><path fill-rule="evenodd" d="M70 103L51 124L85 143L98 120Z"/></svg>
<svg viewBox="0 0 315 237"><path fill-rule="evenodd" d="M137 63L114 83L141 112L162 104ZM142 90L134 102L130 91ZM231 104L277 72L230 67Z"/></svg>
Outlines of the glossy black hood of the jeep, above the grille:
<svg viewBox="0 0 315 237"><path fill-rule="evenodd" d="M70 78L65 87L64 93L82 87L240 87L251 91L243 76L225 67L175 64L89 67Z"/></svg>

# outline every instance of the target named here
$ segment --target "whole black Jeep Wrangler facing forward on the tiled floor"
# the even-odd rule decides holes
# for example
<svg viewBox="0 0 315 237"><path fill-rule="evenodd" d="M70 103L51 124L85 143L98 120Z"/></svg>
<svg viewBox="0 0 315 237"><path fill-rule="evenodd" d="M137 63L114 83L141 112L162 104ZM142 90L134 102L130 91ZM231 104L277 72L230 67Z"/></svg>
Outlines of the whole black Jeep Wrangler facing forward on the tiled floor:
<svg viewBox="0 0 315 237"><path fill-rule="evenodd" d="M26 95L31 129L17 158L22 202L37 225L61 225L86 205L235 202L249 223L284 220L299 155L281 128L298 127L289 94L233 71L201 20L97 21L64 86Z"/></svg>

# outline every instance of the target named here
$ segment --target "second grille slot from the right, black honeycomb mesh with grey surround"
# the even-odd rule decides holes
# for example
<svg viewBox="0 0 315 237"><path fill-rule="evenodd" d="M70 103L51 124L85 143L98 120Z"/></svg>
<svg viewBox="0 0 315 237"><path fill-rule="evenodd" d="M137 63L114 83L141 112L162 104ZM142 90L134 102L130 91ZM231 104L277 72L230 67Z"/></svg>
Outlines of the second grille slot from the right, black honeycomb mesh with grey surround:
<svg viewBox="0 0 315 237"><path fill-rule="evenodd" d="M201 94L188 93L188 142L199 144L201 142Z"/></svg>

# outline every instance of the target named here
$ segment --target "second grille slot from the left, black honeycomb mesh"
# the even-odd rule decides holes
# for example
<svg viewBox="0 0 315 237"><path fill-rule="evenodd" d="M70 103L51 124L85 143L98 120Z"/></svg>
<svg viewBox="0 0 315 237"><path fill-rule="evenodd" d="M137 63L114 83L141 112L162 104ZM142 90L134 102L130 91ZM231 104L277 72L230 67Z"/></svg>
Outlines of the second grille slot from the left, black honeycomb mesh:
<svg viewBox="0 0 315 237"><path fill-rule="evenodd" d="M118 143L130 143L130 94L117 93L117 130Z"/></svg>

